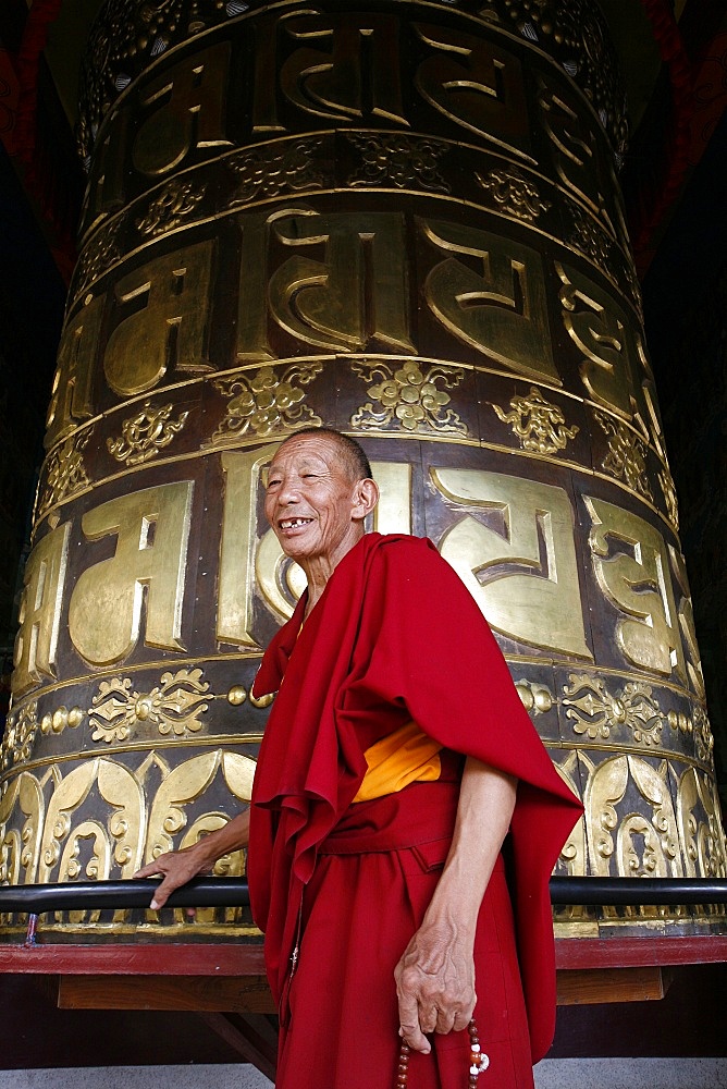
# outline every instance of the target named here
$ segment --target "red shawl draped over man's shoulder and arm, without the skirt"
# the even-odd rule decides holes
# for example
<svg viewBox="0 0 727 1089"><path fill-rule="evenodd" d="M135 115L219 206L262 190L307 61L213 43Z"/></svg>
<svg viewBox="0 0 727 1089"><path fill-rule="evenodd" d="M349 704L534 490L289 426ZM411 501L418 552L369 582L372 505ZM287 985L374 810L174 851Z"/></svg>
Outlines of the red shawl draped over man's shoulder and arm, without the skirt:
<svg viewBox="0 0 727 1089"><path fill-rule="evenodd" d="M446 748L516 775L512 892L533 1061L555 1018L547 880L581 807L554 770L486 623L434 546L370 534L305 597L255 682L278 689L252 793L248 876L280 1000L303 890L366 772L365 750L414 719ZM406 846L406 844L403 844Z"/></svg>

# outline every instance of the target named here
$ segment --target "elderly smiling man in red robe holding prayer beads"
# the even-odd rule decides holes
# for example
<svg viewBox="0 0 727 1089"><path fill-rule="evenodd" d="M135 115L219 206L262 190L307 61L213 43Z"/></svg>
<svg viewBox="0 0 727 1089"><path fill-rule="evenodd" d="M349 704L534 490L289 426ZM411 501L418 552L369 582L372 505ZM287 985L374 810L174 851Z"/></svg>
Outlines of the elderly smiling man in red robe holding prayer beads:
<svg viewBox="0 0 727 1089"><path fill-rule="evenodd" d="M255 682L278 696L249 825L138 876L164 874L161 906L249 827L279 1089L465 1089L485 1066L482 1086L526 1089L554 1025L547 878L579 804L452 568L365 533L377 500L348 437L279 448L266 516L308 588Z"/></svg>

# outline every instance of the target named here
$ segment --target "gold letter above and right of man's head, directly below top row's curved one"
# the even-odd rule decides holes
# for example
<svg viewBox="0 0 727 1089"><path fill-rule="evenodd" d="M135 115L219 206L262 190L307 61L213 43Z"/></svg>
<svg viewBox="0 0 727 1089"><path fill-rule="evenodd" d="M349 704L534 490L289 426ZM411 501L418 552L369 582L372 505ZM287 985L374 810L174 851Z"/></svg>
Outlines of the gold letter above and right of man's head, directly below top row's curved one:
<svg viewBox="0 0 727 1089"><path fill-rule="evenodd" d="M555 369L540 254L489 231L421 221L439 249L482 262L473 272L456 257L435 265L424 294L442 325L470 344L529 378L562 384Z"/></svg>

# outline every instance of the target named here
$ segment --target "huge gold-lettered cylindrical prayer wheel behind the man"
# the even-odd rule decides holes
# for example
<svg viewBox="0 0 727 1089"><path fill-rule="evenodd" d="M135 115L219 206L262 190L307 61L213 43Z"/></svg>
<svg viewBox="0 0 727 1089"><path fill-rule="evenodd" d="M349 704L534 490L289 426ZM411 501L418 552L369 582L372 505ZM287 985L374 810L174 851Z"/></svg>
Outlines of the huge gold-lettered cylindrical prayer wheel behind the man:
<svg viewBox="0 0 727 1089"><path fill-rule="evenodd" d="M317 424L370 455L375 528L431 537L493 625L584 802L563 872L725 876L623 130L590 0L109 0L2 750L3 881L131 876L248 799L250 685L301 588L261 482ZM715 913L558 927L702 931ZM250 932L233 911L48 926L88 921Z"/></svg>

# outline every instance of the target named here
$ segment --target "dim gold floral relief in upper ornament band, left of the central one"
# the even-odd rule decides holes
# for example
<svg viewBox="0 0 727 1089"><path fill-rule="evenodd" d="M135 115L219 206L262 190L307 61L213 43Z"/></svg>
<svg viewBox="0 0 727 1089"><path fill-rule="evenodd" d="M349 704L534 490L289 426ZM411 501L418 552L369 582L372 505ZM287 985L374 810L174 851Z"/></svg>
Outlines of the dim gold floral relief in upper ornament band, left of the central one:
<svg viewBox="0 0 727 1089"><path fill-rule="evenodd" d="M281 193L322 188L324 175L312 162L322 143L321 139L304 139L282 151L256 148L232 156L227 166L236 174L238 184L230 204L248 204L258 196L276 197Z"/></svg>

